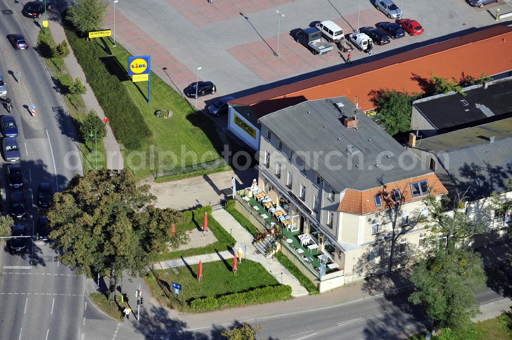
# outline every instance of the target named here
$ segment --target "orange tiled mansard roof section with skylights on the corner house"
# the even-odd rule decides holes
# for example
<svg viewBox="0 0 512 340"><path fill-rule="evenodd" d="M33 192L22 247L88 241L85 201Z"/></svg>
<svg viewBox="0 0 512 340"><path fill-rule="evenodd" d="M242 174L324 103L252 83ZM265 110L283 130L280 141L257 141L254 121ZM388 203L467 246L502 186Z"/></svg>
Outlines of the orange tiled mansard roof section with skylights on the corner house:
<svg viewBox="0 0 512 340"><path fill-rule="evenodd" d="M400 201L401 203L418 201L425 198L425 196L413 197L410 184L425 179L429 182L430 193L432 195L437 196L448 193L448 190L446 190L439 178L437 178L437 176L433 173L386 184L386 192L390 195L393 195L393 190L400 190L400 195L402 197L402 200ZM375 206L374 197L376 195L380 195L382 207ZM365 191L347 189L345 191L345 196L339 203L338 211L350 214L365 215L392 208L394 205L395 203L390 197L387 196L384 188L382 187Z"/></svg>

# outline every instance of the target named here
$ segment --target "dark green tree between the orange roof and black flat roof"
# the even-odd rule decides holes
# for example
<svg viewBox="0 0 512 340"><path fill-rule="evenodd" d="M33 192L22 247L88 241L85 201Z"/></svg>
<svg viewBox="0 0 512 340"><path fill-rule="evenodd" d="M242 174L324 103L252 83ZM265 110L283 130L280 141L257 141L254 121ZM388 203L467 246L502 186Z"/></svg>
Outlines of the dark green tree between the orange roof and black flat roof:
<svg viewBox="0 0 512 340"><path fill-rule="evenodd" d="M380 89L370 95L377 107L377 113L372 116L375 123L382 125L392 136L411 129L412 102L418 94Z"/></svg>

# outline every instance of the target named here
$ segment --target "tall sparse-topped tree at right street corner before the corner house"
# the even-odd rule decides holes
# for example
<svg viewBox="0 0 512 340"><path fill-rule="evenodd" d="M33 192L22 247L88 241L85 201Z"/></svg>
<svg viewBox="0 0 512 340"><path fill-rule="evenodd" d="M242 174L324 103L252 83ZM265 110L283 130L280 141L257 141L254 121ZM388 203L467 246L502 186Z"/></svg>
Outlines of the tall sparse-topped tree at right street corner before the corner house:
<svg viewBox="0 0 512 340"><path fill-rule="evenodd" d="M436 327L470 327L471 318L479 312L475 291L485 288L482 258L467 244L482 226L466 220L461 202L463 195L454 200L446 195L440 200L434 196L425 199L430 233L425 252L413 269L415 289L409 301L423 304Z"/></svg>

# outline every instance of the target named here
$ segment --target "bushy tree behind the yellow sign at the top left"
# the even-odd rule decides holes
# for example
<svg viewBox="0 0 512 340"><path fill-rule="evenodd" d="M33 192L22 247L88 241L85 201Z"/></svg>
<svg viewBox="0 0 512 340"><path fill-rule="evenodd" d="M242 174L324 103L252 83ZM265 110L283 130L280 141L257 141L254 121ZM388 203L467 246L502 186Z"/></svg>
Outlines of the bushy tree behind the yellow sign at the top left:
<svg viewBox="0 0 512 340"><path fill-rule="evenodd" d="M102 0L74 0L68 9L68 19L75 29L85 34L103 25L108 3Z"/></svg>

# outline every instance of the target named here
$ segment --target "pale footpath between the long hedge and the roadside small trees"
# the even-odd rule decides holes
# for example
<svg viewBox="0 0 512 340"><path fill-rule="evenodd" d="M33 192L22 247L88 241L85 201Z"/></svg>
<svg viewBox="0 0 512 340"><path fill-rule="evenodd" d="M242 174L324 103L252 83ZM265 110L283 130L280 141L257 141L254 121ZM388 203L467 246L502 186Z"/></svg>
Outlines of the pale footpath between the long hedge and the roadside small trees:
<svg viewBox="0 0 512 340"><path fill-rule="evenodd" d="M60 2L57 2L57 5L62 11L64 8ZM62 19L61 17L53 17L49 20L52 22L50 24L51 32L53 39L56 43L59 43L62 40L68 39L66 38L66 33L64 32L64 28L62 27ZM69 45L69 42L68 42ZM71 48L70 48L71 49ZM87 93L82 95L83 102L86 104L88 110L93 109L98 114L98 117L103 120L105 117L105 112L98 103L98 100L94 96L94 92L91 89L91 86L87 82L86 75L83 73L82 67L76 60L75 55L72 53L64 59L64 63L71 75L72 79L76 77L82 80L82 83L87 87ZM117 143L116 138L114 137L114 133L110 128L110 125L106 126L106 137L103 138L103 144L105 145L105 153L106 153L106 167L109 169L122 169L124 167L123 163L123 155L121 153L121 149L119 148L119 144Z"/></svg>

